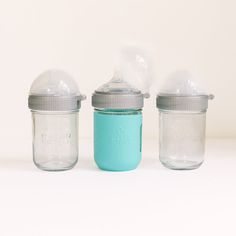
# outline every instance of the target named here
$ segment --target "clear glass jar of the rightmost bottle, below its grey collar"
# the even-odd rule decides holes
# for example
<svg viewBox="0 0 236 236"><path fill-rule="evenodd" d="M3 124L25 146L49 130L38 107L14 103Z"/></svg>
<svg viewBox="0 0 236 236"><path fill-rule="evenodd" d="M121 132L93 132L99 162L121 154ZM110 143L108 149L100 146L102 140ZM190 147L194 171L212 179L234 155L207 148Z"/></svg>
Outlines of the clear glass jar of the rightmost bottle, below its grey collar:
<svg viewBox="0 0 236 236"><path fill-rule="evenodd" d="M195 169L204 160L206 112L159 110L159 158L170 169Z"/></svg>

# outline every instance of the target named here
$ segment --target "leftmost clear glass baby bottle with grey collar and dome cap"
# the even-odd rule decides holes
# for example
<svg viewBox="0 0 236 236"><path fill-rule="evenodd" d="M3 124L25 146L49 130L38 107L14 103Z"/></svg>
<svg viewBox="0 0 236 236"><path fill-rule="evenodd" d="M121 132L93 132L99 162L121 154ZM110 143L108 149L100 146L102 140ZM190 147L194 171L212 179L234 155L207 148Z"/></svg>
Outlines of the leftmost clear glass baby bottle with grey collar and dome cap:
<svg viewBox="0 0 236 236"><path fill-rule="evenodd" d="M63 71L46 71L33 82L28 106L33 120L33 160L38 168L68 170L77 163L77 116L83 99L76 82Z"/></svg>

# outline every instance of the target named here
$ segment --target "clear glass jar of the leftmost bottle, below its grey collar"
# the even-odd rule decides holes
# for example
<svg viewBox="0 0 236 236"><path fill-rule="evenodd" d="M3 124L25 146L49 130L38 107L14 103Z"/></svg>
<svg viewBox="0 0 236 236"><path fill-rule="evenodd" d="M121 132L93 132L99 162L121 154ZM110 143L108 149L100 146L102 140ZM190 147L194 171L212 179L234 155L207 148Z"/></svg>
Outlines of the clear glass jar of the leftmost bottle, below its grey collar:
<svg viewBox="0 0 236 236"><path fill-rule="evenodd" d="M43 170L71 169L78 160L78 112L32 111L33 160Z"/></svg>

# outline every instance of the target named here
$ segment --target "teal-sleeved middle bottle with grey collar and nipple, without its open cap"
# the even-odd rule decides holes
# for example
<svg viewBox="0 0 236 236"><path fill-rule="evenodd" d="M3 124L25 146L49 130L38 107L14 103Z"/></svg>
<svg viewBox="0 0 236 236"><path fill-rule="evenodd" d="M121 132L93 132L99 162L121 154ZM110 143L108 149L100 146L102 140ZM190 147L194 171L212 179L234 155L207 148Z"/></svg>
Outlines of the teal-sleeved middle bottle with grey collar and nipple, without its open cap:
<svg viewBox="0 0 236 236"><path fill-rule="evenodd" d="M135 169L142 156L144 95L121 79L113 79L92 96L94 159L109 171Z"/></svg>

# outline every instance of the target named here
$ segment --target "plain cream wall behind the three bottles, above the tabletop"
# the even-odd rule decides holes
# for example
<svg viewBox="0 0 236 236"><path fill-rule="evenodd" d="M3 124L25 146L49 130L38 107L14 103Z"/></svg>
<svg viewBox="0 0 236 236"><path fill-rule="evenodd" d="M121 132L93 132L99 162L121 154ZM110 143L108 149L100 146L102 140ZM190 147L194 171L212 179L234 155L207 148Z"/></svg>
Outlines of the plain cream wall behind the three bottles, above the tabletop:
<svg viewBox="0 0 236 236"><path fill-rule="evenodd" d="M49 68L68 71L87 95L80 135L91 138L91 94L111 79L126 42L147 45L154 56L144 137L157 138L156 90L174 69L191 71L216 95L207 136L236 137L235 9L235 0L1 0L0 140L31 137L27 95Z"/></svg>

